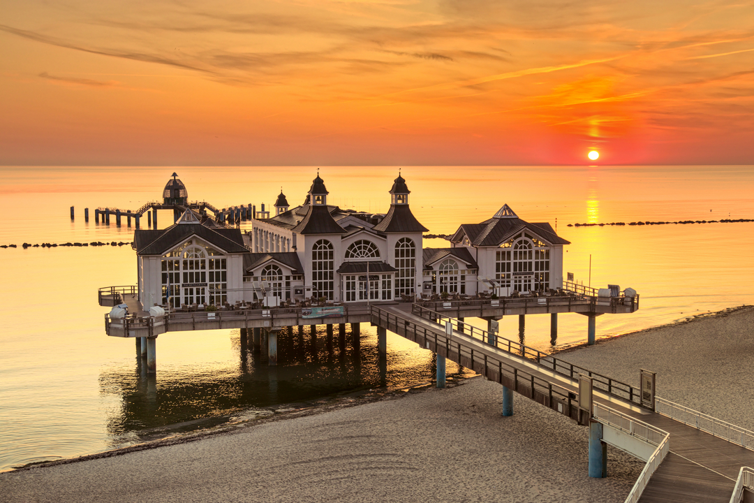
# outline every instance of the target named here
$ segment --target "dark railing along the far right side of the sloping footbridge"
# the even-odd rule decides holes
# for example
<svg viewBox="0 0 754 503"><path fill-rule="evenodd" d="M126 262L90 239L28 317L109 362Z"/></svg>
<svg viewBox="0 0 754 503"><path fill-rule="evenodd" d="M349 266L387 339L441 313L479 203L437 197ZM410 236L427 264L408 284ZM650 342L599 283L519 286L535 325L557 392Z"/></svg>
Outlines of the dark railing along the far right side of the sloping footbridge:
<svg viewBox="0 0 754 503"><path fill-rule="evenodd" d="M493 345L495 348L506 351L507 353L524 357L528 360L533 360L538 363L540 367L551 370L561 376L566 376L569 379L578 379L579 374L590 376L593 379L594 388L599 389L599 391L603 391L612 397L636 403L639 406L642 405L639 388L633 388L633 386L628 385L625 382L611 379L608 376L603 376L602 374L585 369L584 367L579 367L578 365L574 365L565 360L560 360L551 354L544 353L535 348L530 348L521 342L505 339L504 337L489 333L487 330L473 327L470 324L465 324L462 321L458 321L455 318L446 316L437 311L431 311L418 304L413 305L412 313L430 321L435 321L436 323L440 323L440 321L449 321L453 326L453 330L474 339L480 339L481 341Z"/></svg>

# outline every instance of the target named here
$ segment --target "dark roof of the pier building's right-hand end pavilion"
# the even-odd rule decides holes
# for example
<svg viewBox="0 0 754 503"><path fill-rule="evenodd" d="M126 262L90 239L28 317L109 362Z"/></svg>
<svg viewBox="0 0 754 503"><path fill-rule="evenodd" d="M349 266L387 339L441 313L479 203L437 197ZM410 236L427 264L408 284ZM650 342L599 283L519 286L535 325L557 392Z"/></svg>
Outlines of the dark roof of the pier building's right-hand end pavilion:
<svg viewBox="0 0 754 503"><path fill-rule="evenodd" d="M556 235L547 222L529 223L520 218L491 218L477 224L463 224L452 235L450 241L460 243L466 235L475 247L497 247L510 240L524 229L537 235L550 244L571 244L571 241Z"/></svg>

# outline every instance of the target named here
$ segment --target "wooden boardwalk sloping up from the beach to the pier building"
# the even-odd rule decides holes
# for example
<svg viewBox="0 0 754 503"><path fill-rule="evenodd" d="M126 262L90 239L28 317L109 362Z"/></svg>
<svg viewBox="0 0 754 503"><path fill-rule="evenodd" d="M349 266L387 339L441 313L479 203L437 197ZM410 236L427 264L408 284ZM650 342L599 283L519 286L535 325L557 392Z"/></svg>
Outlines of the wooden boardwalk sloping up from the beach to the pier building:
<svg viewBox="0 0 754 503"><path fill-rule="evenodd" d="M523 357L521 353L526 354L526 350L517 342L509 342L507 347L503 345L501 348L499 340L494 346L458 331L448 338L443 325L403 311L398 306L372 308L372 324L417 342L422 348L447 357L563 415L575 420L584 419L579 416L575 401L578 373L588 372L584 369L575 367L569 370L567 365L559 365L553 357L536 356L539 361L532 360L531 354ZM575 378L572 377L574 373ZM740 468L754 466L754 451L639 406L633 392L629 394L622 388L623 383L596 374L594 379L599 380L602 387L602 390L595 389L597 403L670 434L670 454L649 480L639 501L730 501Z"/></svg>

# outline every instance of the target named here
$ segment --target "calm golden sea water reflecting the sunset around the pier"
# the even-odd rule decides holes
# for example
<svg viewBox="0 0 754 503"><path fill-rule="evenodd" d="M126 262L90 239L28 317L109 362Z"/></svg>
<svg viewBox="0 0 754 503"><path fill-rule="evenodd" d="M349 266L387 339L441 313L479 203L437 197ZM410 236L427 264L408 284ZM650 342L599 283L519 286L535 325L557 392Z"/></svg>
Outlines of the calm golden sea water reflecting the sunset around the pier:
<svg viewBox="0 0 754 503"><path fill-rule="evenodd" d="M397 167L321 167L329 201L385 212ZM634 314L597 319L598 336L752 304L754 223L569 227L586 222L754 218L754 168L725 167L403 167L411 207L435 234L488 219L504 203L529 222L550 222L572 242L565 269L593 287L619 284L641 295ZM0 470L135 443L162 428L192 428L250 406L315 400L329 394L424 382L433 358L388 335L381 375L376 334L362 325L360 351L350 334L328 345L294 330L281 337L270 369L241 351L238 330L169 333L157 345L158 376L146 379L131 340L109 338L97 288L136 284L130 246L20 245L131 241L125 222L97 225L93 210L140 207L161 198L176 171L189 198L218 207L274 203L283 189L301 203L312 167L0 167L6 219L0 244ZM75 220L69 207L75 206ZM84 207L90 221L84 222ZM161 213L160 226L170 224ZM143 222L146 225L146 222ZM443 247L443 240L425 246ZM470 320L474 323L474 320ZM479 323L482 326L482 323ZM528 317L526 342L549 349L550 318ZM323 327L320 327L323 328ZM517 318L501 323L518 338ZM555 349L581 342L587 318L559 316ZM458 372L457 367L449 367Z"/></svg>

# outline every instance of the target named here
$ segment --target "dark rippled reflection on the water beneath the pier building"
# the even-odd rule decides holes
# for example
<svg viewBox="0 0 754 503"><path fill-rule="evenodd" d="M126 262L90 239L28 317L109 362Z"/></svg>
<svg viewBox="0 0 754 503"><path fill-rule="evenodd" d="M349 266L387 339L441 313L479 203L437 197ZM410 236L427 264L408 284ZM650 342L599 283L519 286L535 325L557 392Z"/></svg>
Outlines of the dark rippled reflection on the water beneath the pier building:
<svg viewBox="0 0 754 503"><path fill-rule="evenodd" d="M434 379L433 354L417 351L414 343L391 333L388 354L380 355L374 330L356 335L351 330L336 334L325 326L314 333L304 327L286 327L277 336L277 366L268 366L265 336L261 351L253 337L252 330L246 336L238 330L231 333L231 345L238 354L237 362L231 364L166 369L158 362L157 375L148 376L146 360L135 357L135 369L118 367L100 373L100 391L121 399L121 407L107 418L113 445L119 439L132 439L134 433L148 437L155 430L213 424L241 409L307 404L341 392ZM452 362L448 362L448 373L470 374Z"/></svg>

